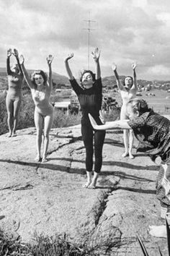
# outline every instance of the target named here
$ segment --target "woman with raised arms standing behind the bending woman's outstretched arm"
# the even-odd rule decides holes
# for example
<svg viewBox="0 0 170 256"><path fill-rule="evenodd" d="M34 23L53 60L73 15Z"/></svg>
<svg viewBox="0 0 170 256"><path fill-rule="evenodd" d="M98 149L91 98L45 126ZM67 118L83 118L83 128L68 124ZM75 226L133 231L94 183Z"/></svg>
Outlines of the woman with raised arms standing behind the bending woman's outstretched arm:
<svg viewBox="0 0 170 256"><path fill-rule="evenodd" d="M136 80L136 73L135 73L135 68L137 66L137 63L132 64L133 68L133 77L125 77L125 80L122 85L122 81L120 81L120 78L117 74L117 66L115 63L112 64L112 70L115 73L115 77L117 80L117 87L120 90L120 95L122 97L122 108L120 111L120 119L128 119L128 114L127 114L127 103L130 101L132 98L135 98L136 92L138 90L137 88L137 80ZM129 158L134 158L132 154L132 149L133 149L133 140L134 140L134 135L133 135L133 130L132 129L124 129L123 130L123 142L125 145L125 153L122 154L122 157L125 157L129 155Z"/></svg>

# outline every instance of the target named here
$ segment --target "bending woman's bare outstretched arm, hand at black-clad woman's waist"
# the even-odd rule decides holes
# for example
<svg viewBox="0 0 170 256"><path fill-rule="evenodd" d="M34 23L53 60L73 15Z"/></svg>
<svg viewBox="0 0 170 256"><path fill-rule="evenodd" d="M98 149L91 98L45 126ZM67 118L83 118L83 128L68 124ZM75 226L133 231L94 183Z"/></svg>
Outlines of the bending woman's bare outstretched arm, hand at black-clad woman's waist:
<svg viewBox="0 0 170 256"><path fill-rule="evenodd" d="M129 120L108 121L106 124L98 125L91 114L89 114L89 119L94 129L131 129L128 124Z"/></svg>

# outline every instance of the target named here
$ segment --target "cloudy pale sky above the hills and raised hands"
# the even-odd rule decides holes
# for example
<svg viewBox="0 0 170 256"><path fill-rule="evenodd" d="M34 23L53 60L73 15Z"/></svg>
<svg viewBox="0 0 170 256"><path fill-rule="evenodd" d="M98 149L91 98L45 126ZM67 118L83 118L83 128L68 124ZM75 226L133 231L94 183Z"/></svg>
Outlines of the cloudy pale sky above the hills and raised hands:
<svg viewBox="0 0 170 256"><path fill-rule="evenodd" d="M170 80L169 0L0 0L0 31L0 67L7 49L17 48L27 69L47 71L53 54L53 72L67 75L64 59L74 53L69 63L78 77L98 47L102 77L113 74L112 62L118 74L132 75L137 61L138 79Z"/></svg>

